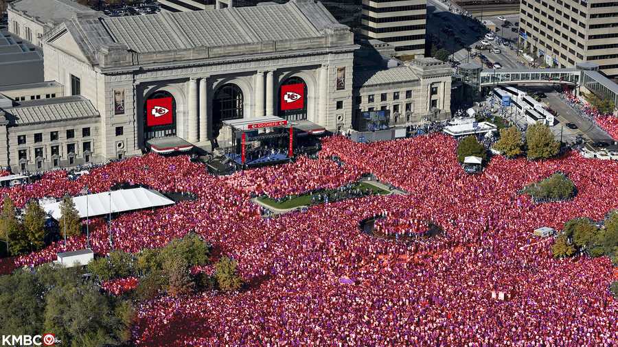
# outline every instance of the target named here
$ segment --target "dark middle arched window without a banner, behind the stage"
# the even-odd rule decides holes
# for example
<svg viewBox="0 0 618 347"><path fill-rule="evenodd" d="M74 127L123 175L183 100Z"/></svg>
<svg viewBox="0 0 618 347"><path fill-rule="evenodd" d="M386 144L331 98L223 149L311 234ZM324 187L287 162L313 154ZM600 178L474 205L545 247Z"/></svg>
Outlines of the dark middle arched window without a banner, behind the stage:
<svg viewBox="0 0 618 347"><path fill-rule="evenodd" d="M216 139L223 121L244 117L244 95L236 84L224 84L217 89L212 100L212 138Z"/></svg>

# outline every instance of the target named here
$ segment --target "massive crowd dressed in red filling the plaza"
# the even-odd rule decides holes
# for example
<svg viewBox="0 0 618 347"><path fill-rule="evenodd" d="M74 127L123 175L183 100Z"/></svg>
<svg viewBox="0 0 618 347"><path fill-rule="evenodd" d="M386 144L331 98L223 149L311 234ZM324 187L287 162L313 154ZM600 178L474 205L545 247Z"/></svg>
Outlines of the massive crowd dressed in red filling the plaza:
<svg viewBox="0 0 618 347"><path fill-rule="evenodd" d="M575 152L535 162L494 156L483 173L468 176L455 146L439 134L370 144L333 136L317 160L224 178L186 156L148 155L75 181L52 173L9 193L23 204L20 193L61 196L84 185L97 192L126 181L196 194L195 201L114 219L114 247L136 252L195 231L238 261L246 287L141 302L137 346L618 344L610 260L556 261L551 239L531 235L574 217L600 220L617 208L618 163ZM518 193L556 171L575 183L573 200L534 204ZM250 201L255 194L337 187L366 172L409 194L318 204L267 219ZM405 232L405 221L422 219L444 235L398 242L361 232L359 222L376 215L385 216L383 232ZM106 254L106 221L95 220L91 230L93 250ZM83 246L83 236L72 238L18 263L50 261L56 250ZM492 298L496 290L510 299Z"/></svg>

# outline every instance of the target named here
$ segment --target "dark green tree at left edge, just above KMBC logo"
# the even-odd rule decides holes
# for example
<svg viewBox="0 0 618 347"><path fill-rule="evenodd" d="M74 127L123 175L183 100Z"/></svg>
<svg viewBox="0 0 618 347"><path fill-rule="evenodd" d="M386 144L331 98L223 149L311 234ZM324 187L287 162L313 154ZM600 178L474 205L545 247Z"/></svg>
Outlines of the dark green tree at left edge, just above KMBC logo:
<svg viewBox="0 0 618 347"><path fill-rule="evenodd" d="M0 331L13 335L38 335L43 327L44 288L34 274L16 270L0 276Z"/></svg>

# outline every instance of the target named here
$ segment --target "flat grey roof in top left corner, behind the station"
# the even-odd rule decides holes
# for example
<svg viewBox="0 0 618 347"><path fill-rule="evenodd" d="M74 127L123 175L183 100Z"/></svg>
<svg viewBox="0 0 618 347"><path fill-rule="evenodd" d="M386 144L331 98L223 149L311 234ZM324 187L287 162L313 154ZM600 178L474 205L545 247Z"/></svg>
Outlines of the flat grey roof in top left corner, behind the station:
<svg viewBox="0 0 618 347"><path fill-rule="evenodd" d="M95 12L73 0L17 0L9 8L49 26L67 21L77 12Z"/></svg>

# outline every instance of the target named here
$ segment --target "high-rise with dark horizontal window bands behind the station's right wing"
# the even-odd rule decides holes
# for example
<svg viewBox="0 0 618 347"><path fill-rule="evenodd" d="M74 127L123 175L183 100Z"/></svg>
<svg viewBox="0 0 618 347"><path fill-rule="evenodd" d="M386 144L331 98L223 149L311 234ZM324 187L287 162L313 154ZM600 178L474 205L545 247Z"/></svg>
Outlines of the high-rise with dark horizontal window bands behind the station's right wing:
<svg viewBox="0 0 618 347"><path fill-rule="evenodd" d="M398 56L423 56L426 5L426 0L363 0L361 34L390 43Z"/></svg>

